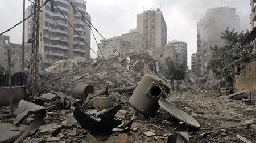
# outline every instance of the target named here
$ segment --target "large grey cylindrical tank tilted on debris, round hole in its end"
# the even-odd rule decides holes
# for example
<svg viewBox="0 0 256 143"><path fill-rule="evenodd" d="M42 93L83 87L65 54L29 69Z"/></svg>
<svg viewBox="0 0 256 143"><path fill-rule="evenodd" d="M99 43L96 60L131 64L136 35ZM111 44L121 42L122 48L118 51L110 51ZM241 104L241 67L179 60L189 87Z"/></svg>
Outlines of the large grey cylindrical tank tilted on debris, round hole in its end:
<svg viewBox="0 0 256 143"><path fill-rule="evenodd" d="M158 100L160 97L166 98L166 94L170 93L170 90L168 84L162 79L146 74L131 95L129 103L141 114L154 117L160 107Z"/></svg>

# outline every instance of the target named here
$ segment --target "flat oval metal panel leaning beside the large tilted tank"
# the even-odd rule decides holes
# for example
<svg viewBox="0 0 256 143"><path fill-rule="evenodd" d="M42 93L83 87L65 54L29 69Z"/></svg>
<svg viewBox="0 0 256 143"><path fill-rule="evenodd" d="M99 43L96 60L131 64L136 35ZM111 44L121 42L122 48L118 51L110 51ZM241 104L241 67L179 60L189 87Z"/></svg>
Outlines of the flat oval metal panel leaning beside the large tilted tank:
<svg viewBox="0 0 256 143"><path fill-rule="evenodd" d="M158 103L164 110L169 112L176 119L186 122L193 128L200 128L200 124L197 122L197 120L195 120L191 115L188 115L184 111L177 109L175 105L173 105L171 102L168 102L166 99L160 99Z"/></svg>

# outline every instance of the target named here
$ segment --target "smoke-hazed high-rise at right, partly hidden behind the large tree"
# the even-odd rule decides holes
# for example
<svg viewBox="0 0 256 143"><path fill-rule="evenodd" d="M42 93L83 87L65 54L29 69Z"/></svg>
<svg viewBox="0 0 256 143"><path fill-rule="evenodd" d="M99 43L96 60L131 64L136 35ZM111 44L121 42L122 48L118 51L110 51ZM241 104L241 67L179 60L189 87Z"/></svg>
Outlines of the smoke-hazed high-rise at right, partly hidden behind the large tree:
<svg viewBox="0 0 256 143"><path fill-rule="evenodd" d="M204 18L197 22L197 54L200 57L200 77L214 81L213 72L207 70L209 60L212 58L210 46L224 46L221 32L229 27L239 31L239 16L235 8L220 7L208 9Z"/></svg>

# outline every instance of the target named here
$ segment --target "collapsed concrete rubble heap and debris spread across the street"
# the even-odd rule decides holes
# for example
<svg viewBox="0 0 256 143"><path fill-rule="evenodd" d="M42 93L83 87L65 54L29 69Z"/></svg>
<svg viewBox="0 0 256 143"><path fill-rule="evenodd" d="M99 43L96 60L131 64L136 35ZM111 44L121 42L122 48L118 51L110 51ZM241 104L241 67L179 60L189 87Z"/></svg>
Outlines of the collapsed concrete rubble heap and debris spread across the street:
<svg viewBox="0 0 256 143"><path fill-rule="evenodd" d="M146 51L122 55L105 62L56 62L40 72L40 87L30 103L14 106L14 117L9 106L1 107L0 127L21 128L19 135L9 136L22 142L255 142L254 104L196 87L171 90ZM34 106L45 112L38 114Z"/></svg>

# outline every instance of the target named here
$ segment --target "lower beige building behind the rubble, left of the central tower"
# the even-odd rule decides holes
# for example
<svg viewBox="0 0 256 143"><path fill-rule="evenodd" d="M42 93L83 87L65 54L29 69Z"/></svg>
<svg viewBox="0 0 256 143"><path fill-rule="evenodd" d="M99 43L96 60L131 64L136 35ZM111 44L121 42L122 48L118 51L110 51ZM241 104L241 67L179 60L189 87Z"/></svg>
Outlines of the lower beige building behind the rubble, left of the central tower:
<svg viewBox="0 0 256 143"><path fill-rule="evenodd" d="M108 58L110 55L118 54L117 50L126 50L132 48L142 48L145 44L145 37L139 32L130 31L130 33L122 34L121 36L101 40L98 44L97 54L100 57ZM102 55L101 55L102 54Z"/></svg>

